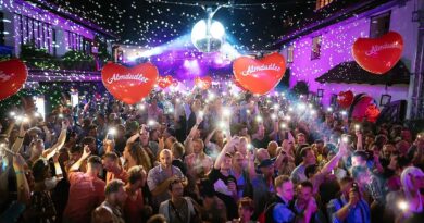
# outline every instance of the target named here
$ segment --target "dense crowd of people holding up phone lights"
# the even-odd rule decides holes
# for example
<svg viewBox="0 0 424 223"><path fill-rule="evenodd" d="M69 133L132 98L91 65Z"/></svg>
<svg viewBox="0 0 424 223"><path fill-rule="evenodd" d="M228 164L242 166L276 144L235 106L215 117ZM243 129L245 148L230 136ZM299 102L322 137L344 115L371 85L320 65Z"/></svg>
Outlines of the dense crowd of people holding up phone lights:
<svg viewBox="0 0 424 223"><path fill-rule="evenodd" d="M423 222L424 134L284 94L11 109L0 222Z"/></svg>

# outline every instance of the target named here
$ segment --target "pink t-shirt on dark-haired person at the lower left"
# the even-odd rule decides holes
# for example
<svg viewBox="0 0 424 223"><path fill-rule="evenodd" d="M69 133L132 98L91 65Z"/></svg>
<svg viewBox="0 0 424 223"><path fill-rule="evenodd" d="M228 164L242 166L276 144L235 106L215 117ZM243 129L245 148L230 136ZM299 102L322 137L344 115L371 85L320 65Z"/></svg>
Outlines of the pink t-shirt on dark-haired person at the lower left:
<svg viewBox="0 0 424 223"><path fill-rule="evenodd" d="M90 222L91 211L104 200L105 183L83 172L71 172L70 198L64 218L71 222Z"/></svg>

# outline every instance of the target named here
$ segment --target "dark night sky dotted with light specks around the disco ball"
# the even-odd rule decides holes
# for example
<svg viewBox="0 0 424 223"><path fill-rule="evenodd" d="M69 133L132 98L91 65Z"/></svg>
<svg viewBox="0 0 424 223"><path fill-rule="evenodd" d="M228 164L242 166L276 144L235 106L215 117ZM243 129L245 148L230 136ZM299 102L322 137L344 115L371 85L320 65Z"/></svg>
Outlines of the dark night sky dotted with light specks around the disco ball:
<svg viewBox="0 0 424 223"><path fill-rule="evenodd" d="M33 1L37 2L37 1ZM48 0L61 10L100 25L121 37L120 41L155 47L190 34L197 21L205 18L198 4L225 4L214 16L232 45L240 50L272 47L282 35L314 13L314 0L232 0L232 1L157 1L157 0Z"/></svg>

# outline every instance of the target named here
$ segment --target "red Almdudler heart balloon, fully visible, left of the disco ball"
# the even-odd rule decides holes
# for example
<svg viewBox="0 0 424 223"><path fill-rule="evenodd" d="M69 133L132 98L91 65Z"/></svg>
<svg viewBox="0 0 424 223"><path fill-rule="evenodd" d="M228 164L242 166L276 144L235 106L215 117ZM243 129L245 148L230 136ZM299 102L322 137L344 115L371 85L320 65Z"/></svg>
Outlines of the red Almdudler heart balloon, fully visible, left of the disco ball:
<svg viewBox="0 0 424 223"><path fill-rule="evenodd" d="M104 87L117 100L134 104L153 89L158 73L157 66L151 63L144 63L134 67L108 63L101 70L101 78Z"/></svg>

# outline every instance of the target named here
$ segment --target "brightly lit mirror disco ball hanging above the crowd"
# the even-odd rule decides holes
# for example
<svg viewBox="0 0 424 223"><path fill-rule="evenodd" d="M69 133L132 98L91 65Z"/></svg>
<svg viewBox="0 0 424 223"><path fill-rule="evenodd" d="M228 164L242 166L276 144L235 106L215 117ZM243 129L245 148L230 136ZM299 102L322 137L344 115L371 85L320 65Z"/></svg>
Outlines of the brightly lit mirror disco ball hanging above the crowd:
<svg viewBox="0 0 424 223"><path fill-rule="evenodd" d="M192 27L191 42L201 52L215 52L221 49L225 40L224 26L217 21L201 20ZM209 32L208 32L209 30Z"/></svg>

